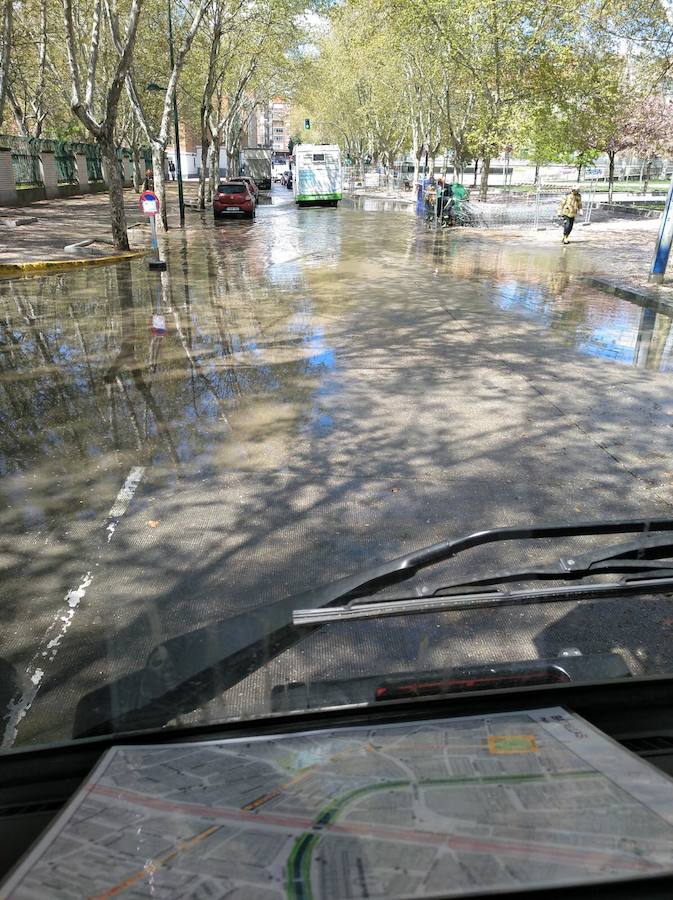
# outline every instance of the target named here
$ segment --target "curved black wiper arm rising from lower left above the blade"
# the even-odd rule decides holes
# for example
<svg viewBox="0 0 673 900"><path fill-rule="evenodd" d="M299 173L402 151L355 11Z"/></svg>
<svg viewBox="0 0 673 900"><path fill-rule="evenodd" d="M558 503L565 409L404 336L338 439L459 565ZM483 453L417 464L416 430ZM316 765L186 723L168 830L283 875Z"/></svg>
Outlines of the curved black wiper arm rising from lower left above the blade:
<svg viewBox="0 0 673 900"><path fill-rule="evenodd" d="M495 528L477 531L457 540L432 544L301 595L258 606L249 612L158 644L149 653L144 668L81 698L73 736L159 727L176 715L196 709L222 694L298 643L312 628L322 624L319 619L320 611L334 607L340 601L371 597L383 587L405 581L421 569L451 559L465 550L502 541L606 534L640 534L649 536L650 539L654 532L663 532L664 535L670 533L670 538L666 537L666 540L670 540L670 545L673 546L673 519ZM614 551L615 548L612 549ZM641 543L636 552L643 550ZM623 548L620 552L623 553ZM596 560L598 562L600 560ZM643 587L634 583L630 589L642 591ZM573 586L572 590L584 591L585 595L587 593L583 586ZM592 595L597 590L598 586L593 585ZM540 602L539 597L526 600L514 592L508 598L512 603ZM480 592L469 598L470 605L474 605L476 600L494 605L494 601L503 601L503 595L498 591ZM422 604L430 601L445 604L459 602L447 597L414 597L409 602L415 604L414 612L422 612ZM380 614L380 604L374 601L372 605L376 605L376 614ZM353 612L357 611L353 604L351 608ZM459 607L456 605L455 608ZM316 620L302 619L304 611L312 613ZM400 607L396 613L391 614L401 612Z"/></svg>

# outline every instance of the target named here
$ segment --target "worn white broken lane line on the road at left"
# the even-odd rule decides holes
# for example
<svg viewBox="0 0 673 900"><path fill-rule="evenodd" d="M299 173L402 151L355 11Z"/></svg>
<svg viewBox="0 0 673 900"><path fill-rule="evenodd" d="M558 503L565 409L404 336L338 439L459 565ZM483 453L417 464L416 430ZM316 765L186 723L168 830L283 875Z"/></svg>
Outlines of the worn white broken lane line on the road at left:
<svg viewBox="0 0 673 900"><path fill-rule="evenodd" d="M129 472L126 481L122 485L121 490L117 494L115 502L112 504L110 512L105 517L104 529L109 544L115 533L119 520L129 508L129 504L133 499L138 485L142 481L145 474L144 466L134 466ZM98 547L100 550L100 546ZM2 749L12 747L16 741L16 735L19 724L28 713L33 705L35 698L40 690L40 685L44 681L46 672L41 666L54 661L58 653L61 641L66 636L68 629L72 625L77 608L84 599L87 589L93 581L91 571L88 571L82 578L76 588L71 588L63 598L64 606L54 616L51 624L45 631L40 646L31 659L26 668L26 689L23 694L16 700L12 700L7 707L8 719L5 732L2 737ZM56 634L54 634L56 632ZM38 665L41 664L41 666Z"/></svg>

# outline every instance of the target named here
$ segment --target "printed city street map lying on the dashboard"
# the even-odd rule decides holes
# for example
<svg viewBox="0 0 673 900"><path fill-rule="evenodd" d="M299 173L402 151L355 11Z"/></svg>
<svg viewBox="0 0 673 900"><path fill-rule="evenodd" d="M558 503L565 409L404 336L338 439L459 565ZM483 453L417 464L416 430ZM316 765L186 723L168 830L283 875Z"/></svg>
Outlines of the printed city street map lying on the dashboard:
<svg viewBox="0 0 673 900"><path fill-rule="evenodd" d="M0 897L451 897L673 871L673 782L560 708L109 750Z"/></svg>

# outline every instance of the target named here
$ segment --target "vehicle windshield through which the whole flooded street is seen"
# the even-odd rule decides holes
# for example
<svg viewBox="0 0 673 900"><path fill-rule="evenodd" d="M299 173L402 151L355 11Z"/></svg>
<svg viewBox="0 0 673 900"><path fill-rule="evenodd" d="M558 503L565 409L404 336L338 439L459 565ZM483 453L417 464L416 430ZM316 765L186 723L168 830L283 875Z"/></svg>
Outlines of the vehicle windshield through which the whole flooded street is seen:
<svg viewBox="0 0 673 900"><path fill-rule="evenodd" d="M133 37L134 5L126 55L101 18L97 67L48 2L49 75L27 39L39 9L16 9L4 750L420 683L672 671L671 549L610 550L673 518L671 29L663 4L635 24L608 6L268 3L260 35L249 6L214 28L186 4L171 56L144 7L153 41ZM255 201L227 207L250 160ZM483 529L606 521L642 527L483 543L320 593ZM507 602L468 597L489 591ZM447 593L468 599L296 615Z"/></svg>

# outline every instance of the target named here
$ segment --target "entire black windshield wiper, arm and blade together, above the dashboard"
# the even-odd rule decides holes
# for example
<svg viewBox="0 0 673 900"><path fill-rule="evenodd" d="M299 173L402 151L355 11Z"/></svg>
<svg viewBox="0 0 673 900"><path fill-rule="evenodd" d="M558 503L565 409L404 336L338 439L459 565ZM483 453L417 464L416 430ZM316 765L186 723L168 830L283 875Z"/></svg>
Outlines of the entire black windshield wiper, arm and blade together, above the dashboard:
<svg viewBox="0 0 673 900"><path fill-rule="evenodd" d="M562 558L554 566L488 574L449 586L461 594L372 599L384 587L412 578L420 570L479 546L503 541L548 540L636 534L628 543ZM183 712L199 708L328 621L404 615L441 609L540 603L643 591L673 590L673 519L591 522L580 525L511 527L478 531L432 544L300 595L258 606L155 646L145 667L91 691L76 712L75 737L159 727ZM663 568L660 568L664 565ZM614 568L606 568L613 566ZM589 572L630 572L614 584L561 585L527 591L484 590L484 586L524 577L580 579ZM464 592L465 588L476 588ZM365 602L358 602L366 597ZM347 605L337 606L343 604Z"/></svg>

